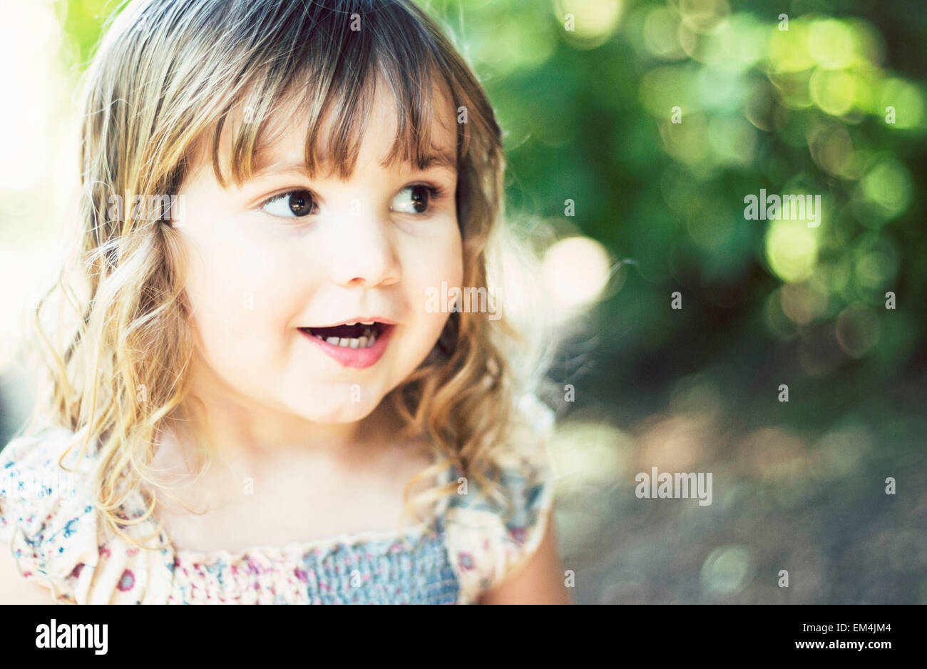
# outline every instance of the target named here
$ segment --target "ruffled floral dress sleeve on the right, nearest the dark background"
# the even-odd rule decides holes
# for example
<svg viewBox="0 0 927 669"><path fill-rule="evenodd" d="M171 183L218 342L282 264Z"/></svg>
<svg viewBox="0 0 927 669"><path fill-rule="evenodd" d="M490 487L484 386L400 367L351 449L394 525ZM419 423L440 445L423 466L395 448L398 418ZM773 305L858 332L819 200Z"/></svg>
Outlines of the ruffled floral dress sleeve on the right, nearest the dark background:
<svg viewBox="0 0 927 669"><path fill-rule="evenodd" d="M518 409L511 443L494 460L493 478L503 499L490 497L472 477L464 480L451 469L458 495L445 513L445 533L461 603L474 603L524 566L550 522L553 483L547 443L553 411L533 397L522 398Z"/></svg>

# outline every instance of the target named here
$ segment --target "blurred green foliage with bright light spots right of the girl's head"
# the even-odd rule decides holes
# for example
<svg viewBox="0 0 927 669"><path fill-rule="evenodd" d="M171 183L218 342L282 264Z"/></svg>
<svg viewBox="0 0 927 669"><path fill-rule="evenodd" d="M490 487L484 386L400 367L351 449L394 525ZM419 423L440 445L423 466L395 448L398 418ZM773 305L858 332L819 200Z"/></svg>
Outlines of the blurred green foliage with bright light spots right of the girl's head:
<svg viewBox="0 0 927 669"><path fill-rule="evenodd" d="M642 389L705 369L756 423L781 411L780 383L799 398L796 426L867 399L875 423L903 415L912 398L882 406L877 388L905 378L924 397L922 8L430 5L463 36L509 132L511 208L637 261L590 328L599 372L586 390L603 406L645 414L666 396ZM760 189L820 195L819 227L745 220Z"/></svg>

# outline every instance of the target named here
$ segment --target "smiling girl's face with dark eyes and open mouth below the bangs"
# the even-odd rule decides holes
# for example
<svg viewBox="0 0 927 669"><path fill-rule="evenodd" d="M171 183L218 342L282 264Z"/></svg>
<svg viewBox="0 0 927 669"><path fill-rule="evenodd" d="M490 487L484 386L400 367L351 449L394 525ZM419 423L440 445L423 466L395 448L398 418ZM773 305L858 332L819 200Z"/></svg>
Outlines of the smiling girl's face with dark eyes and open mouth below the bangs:
<svg viewBox="0 0 927 669"><path fill-rule="evenodd" d="M435 161L384 167L397 133L388 91L377 86L347 181L337 170L309 179L306 122L281 115L286 126L248 183L223 189L209 160L184 183L177 228L190 259L193 387L208 405L359 421L437 342L448 314L425 309L426 290L463 279L455 116L438 89ZM222 165L230 144L222 137ZM336 329L345 323L357 324Z"/></svg>

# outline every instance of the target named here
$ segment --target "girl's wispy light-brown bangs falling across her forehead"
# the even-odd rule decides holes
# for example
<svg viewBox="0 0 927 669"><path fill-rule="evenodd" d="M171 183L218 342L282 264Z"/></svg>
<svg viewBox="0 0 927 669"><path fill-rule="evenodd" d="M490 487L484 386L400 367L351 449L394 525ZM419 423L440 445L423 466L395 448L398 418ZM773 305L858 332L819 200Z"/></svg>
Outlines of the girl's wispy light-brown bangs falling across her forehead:
<svg viewBox="0 0 927 669"><path fill-rule="evenodd" d="M441 54L425 15L415 8L369 0L332 11L319 3L254 2L249 16L217 26L222 44L235 51L237 95L222 108L211 137L211 160L222 186L220 140L231 136L232 179L251 178L261 152L286 132L294 119L308 123L304 145L307 172L337 171L347 179L360 153L363 131L373 111L375 90L387 86L397 108L397 133L386 165L397 161L425 170L435 148L434 86L446 86L451 114L468 100L459 97L454 71ZM281 16L283 15L283 16ZM218 18L222 20L221 17ZM444 110L440 110L444 113ZM470 144L468 124L456 122L456 160ZM328 133L322 136L324 123Z"/></svg>

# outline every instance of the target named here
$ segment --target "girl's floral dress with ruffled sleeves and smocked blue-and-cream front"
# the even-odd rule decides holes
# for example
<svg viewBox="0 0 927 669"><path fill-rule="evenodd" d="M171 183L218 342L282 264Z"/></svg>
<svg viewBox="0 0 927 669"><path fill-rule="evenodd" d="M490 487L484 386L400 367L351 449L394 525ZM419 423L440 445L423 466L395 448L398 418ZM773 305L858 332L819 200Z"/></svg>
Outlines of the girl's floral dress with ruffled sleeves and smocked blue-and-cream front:
<svg viewBox="0 0 927 669"><path fill-rule="evenodd" d="M93 506L90 453L79 461L82 440L49 428L0 451L0 549L23 578L67 603L473 603L527 561L549 520L544 437L552 412L533 398L520 407L530 429L497 461L510 514L467 480L466 494L442 500L430 523L235 552L174 549L163 530L159 549L104 532ZM58 466L70 445L63 462L74 473ZM451 467L444 476L448 482L461 473ZM121 514L135 519L145 509L135 494ZM141 540L156 532L157 520L122 529Z"/></svg>

